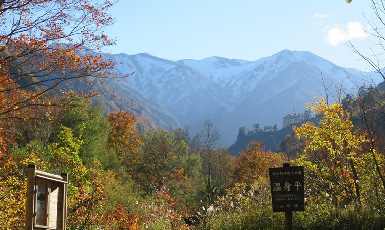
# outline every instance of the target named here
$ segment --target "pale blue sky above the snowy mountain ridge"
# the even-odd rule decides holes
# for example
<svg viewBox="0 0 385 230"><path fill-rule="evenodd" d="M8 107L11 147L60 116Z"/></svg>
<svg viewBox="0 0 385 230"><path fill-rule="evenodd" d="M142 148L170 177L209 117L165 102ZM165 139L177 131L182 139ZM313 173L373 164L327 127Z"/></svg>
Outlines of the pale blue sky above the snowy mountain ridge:
<svg viewBox="0 0 385 230"><path fill-rule="evenodd" d="M120 0L109 13L116 22L105 32L117 45L105 51L113 54L253 61L289 49L369 70L344 39L367 52L373 37L364 33L369 24L363 14L373 18L370 1Z"/></svg>

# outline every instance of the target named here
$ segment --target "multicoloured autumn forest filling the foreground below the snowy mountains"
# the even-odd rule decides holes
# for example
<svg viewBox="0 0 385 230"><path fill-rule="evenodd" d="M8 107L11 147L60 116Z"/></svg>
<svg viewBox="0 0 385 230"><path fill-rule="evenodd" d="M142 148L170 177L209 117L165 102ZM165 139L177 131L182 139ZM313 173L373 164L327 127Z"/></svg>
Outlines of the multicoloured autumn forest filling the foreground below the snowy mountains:
<svg viewBox="0 0 385 230"><path fill-rule="evenodd" d="M314 99L300 123L285 118L293 133L280 151L249 141L233 156L210 119L193 134L141 122L139 109L114 110L119 97L105 102L112 111L92 102L103 98L99 83L127 77L96 52L113 44L102 32L112 5L0 1L0 229L25 229L31 164L69 174L70 230L283 229L268 169L287 162L305 174L295 229L385 228L381 87ZM238 135L272 132L255 124Z"/></svg>

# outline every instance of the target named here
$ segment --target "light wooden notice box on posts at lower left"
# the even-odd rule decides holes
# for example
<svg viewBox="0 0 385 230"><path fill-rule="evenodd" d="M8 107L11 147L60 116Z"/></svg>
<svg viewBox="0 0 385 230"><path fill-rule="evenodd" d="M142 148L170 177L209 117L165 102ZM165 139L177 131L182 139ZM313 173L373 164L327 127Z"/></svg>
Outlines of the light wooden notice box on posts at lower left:
<svg viewBox="0 0 385 230"><path fill-rule="evenodd" d="M59 175L28 165L26 230L65 230L67 213L66 173Z"/></svg>

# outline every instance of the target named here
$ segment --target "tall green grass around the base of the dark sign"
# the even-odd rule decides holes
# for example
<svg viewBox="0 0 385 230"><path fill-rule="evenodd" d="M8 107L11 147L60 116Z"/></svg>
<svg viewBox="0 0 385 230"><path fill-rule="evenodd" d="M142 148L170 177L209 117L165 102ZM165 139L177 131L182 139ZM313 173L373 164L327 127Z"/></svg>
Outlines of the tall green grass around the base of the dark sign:
<svg viewBox="0 0 385 230"><path fill-rule="evenodd" d="M285 214L273 213L269 190L237 191L218 197L215 205L202 208L198 230L285 229ZM304 212L293 212L293 228L331 230L383 230L385 216L369 205L352 203L334 206L328 201L309 199Z"/></svg>

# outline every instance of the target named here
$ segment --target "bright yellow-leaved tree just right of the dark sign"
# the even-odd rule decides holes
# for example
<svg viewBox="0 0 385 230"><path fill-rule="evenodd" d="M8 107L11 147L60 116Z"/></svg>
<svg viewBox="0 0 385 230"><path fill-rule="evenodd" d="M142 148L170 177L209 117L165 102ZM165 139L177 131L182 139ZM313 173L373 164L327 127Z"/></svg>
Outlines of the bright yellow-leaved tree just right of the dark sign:
<svg viewBox="0 0 385 230"><path fill-rule="evenodd" d="M305 141L297 163L305 166L309 188L335 203L362 202L370 193L370 181L377 180L376 176L369 179L373 159L362 148L368 140L354 129L340 103L328 104L321 98L307 108L320 117L318 125L306 122L294 127L294 132Z"/></svg>

